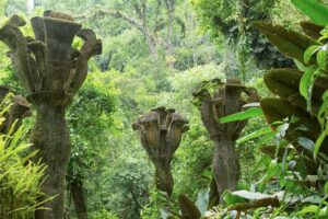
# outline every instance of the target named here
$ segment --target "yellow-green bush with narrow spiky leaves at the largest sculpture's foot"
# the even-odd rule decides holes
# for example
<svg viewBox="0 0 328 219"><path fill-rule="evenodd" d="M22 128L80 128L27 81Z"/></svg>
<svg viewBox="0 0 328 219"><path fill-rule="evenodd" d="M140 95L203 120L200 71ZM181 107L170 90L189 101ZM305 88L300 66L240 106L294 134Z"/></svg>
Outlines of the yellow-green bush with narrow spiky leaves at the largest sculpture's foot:
<svg viewBox="0 0 328 219"><path fill-rule="evenodd" d="M31 145L21 141L25 131L21 127L15 134L0 135L0 218L33 218L44 195L40 184L46 166L31 161L37 151L31 152Z"/></svg>

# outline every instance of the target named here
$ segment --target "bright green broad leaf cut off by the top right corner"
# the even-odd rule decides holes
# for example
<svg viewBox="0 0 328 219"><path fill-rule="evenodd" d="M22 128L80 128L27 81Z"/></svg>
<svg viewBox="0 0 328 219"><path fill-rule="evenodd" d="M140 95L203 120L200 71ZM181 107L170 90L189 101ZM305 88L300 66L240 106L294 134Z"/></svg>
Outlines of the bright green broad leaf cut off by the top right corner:
<svg viewBox="0 0 328 219"><path fill-rule="evenodd" d="M311 18L316 24L328 24L328 8L315 0L292 0L293 4Z"/></svg>

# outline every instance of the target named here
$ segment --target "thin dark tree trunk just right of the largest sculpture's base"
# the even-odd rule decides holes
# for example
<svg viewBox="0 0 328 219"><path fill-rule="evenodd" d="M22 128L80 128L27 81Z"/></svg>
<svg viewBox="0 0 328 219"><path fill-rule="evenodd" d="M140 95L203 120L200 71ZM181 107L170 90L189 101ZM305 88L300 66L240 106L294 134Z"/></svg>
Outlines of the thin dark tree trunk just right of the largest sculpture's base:
<svg viewBox="0 0 328 219"><path fill-rule="evenodd" d="M75 211L79 219L87 219L87 210L83 193L83 183L79 178L74 178L70 183L71 194L75 205Z"/></svg>

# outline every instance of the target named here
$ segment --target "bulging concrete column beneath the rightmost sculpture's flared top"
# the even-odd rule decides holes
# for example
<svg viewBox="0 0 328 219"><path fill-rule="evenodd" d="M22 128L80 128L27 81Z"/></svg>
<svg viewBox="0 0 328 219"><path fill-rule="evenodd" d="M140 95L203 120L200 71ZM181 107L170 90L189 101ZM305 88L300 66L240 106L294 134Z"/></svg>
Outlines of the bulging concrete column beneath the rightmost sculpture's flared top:
<svg viewBox="0 0 328 219"><path fill-rule="evenodd" d="M235 191L241 174L238 155L235 151L236 139L229 135L220 135L215 139L213 174L222 203L224 189Z"/></svg>

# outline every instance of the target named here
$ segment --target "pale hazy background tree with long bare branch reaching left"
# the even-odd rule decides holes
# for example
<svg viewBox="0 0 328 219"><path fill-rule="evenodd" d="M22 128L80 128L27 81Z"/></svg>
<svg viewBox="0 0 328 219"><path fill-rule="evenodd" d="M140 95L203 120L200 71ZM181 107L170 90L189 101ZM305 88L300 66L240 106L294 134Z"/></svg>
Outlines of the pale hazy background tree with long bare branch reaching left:
<svg viewBox="0 0 328 219"><path fill-rule="evenodd" d="M126 4L128 4L126 8L130 8L133 13L126 13L122 10L115 8L109 10L96 9L92 13L78 15L75 18L90 21L109 15L124 20L143 35L149 51L155 60L160 58L159 54L161 49L164 49L165 56L173 56L174 32L176 30L175 24L180 27L183 34L186 28L184 20L175 13L177 1L164 0L163 2L162 0L133 0L126 2ZM166 12L166 18L163 18L163 9ZM131 14L134 14L134 16ZM163 32L163 30L166 31L164 36L161 36L160 32ZM167 65L174 67L174 61L167 61Z"/></svg>

